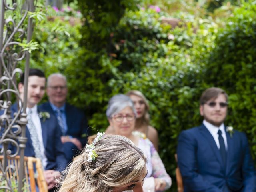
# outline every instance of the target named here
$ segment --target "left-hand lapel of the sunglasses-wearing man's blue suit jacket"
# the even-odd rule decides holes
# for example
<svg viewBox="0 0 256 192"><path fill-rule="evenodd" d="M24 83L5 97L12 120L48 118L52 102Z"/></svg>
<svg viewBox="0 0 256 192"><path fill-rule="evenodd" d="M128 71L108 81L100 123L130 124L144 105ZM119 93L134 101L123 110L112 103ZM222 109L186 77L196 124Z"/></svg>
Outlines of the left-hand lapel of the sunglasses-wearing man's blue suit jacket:
<svg viewBox="0 0 256 192"><path fill-rule="evenodd" d="M215 156L218 159L218 162L221 164L222 168L224 168L224 164L222 162L222 158L220 156L220 151L218 150L218 147L216 145L216 142L212 136L212 134L210 134L210 132L208 131L208 129L204 126L204 124L202 124L199 127L202 135L204 136L204 138L206 139L206 141L208 142L208 144L210 145L210 148L212 148L212 151L214 152ZM224 168L225 170L225 168Z"/></svg>

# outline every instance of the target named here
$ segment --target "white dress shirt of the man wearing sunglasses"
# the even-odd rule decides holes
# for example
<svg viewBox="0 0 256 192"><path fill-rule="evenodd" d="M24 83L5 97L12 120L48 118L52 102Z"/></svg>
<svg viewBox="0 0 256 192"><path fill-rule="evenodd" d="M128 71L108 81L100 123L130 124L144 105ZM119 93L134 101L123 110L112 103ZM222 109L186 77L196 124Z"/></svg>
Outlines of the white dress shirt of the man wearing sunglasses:
<svg viewBox="0 0 256 192"><path fill-rule="evenodd" d="M219 134L218 134L218 130L220 129L221 132L222 132L222 137L223 137L223 140L224 140L224 144L225 144L225 148L226 150L228 150L228 143L227 143L227 137L226 137L226 132L225 132L225 126L224 124L222 123L220 125L220 127L216 127L212 124L210 124L209 122L207 122L206 120L203 121L203 124L204 126L206 126L206 128L208 129L208 131L210 132L210 134L213 136L215 142L216 142L216 145L218 147L218 149L220 149L220 142L219 142Z"/></svg>

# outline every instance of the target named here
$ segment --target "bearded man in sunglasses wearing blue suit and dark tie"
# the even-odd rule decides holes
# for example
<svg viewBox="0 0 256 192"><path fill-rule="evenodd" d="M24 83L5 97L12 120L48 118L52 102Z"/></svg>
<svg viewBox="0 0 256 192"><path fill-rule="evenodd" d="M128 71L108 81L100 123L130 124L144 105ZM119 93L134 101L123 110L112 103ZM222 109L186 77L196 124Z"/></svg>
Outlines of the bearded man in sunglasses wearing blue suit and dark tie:
<svg viewBox="0 0 256 192"><path fill-rule="evenodd" d="M200 98L199 127L178 138L178 166L184 192L256 192L256 171L248 140L224 125L228 95L208 88Z"/></svg>

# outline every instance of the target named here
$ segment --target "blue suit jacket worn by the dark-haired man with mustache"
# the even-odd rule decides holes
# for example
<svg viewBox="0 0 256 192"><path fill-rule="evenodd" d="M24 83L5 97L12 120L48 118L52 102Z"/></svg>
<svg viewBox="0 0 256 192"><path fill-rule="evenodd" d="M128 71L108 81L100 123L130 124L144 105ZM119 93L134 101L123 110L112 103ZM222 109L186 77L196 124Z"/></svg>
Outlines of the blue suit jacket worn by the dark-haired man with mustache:
<svg viewBox="0 0 256 192"><path fill-rule="evenodd" d="M17 112L17 103L13 104L11 107L12 114ZM44 112L38 106L38 112ZM62 171L66 168L68 161L64 155L64 149L62 148L62 143L60 140L61 130L58 122L54 116L50 118L40 118L42 137L45 148L45 155L47 158L46 170L58 170ZM26 142L25 156L35 156L35 152L32 146L32 140L30 138L30 133L26 126L26 137L28 141Z"/></svg>

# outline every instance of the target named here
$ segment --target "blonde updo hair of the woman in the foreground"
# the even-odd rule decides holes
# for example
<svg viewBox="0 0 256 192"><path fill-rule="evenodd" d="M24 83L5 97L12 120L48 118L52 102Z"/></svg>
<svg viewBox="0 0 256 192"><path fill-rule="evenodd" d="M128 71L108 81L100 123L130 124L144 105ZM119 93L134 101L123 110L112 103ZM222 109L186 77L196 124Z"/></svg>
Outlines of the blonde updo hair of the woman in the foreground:
<svg viewBox="0 0 256 192"><path fill-rule="evenodd" d="M96 142L95 161L83 150L62 175L59 192L113 192L146 172L142 151L124 136L106 136Z"/></svg>

